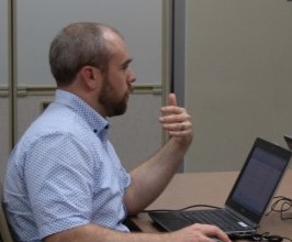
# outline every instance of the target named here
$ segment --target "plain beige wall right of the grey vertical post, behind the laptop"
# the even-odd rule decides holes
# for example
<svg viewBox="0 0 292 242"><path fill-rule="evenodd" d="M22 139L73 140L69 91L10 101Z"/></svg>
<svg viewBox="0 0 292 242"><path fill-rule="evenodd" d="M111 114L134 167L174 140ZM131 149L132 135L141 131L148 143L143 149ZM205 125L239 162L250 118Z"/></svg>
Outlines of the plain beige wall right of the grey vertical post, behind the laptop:
<svg viewBox="0 0 292 242"><path fill-rule="evenodd" d="M239 169L257 136L292 133L292 3L188 0L187 170Z"/></svg>

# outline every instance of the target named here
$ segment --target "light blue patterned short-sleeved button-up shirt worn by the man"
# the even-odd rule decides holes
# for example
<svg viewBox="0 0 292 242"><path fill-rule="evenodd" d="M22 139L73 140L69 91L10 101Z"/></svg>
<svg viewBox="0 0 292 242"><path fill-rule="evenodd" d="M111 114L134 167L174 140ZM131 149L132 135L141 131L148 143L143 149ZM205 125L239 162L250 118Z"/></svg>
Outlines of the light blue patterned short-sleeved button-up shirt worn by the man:
<svg viewBox="0 0 292 242"><path fill-rule="evenodd" d="M56 91L11 153L4 187L20 241L97 223L120 231L131 178L108 140L109 123L77 96Z"/></svg>

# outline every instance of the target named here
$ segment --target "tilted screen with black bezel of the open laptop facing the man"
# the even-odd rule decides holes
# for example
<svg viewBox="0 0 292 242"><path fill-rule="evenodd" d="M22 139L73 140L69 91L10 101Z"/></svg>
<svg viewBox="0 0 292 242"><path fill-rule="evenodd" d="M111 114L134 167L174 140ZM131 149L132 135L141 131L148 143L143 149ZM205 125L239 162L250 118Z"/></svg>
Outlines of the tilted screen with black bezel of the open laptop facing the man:
<svg viewBox="0 0 292 242"><path fill-rule="evenodd" d="M290 152L279 146L256 141L242 169L226 207L258 223L280 184Z"/></svg>

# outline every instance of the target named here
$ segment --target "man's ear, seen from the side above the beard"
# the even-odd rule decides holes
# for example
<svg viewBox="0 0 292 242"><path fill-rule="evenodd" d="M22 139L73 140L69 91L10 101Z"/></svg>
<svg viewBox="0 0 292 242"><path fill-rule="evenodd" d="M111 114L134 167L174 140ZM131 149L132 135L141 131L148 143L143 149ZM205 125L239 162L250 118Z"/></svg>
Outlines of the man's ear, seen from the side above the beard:
<svg viewBox="0 0 292 242"><path fill-rule="evenodd" d="M88 88L94 89L97 88L101 80L101 72L99 68L92 66L85 66L80 72L82 79Z"/></svg>

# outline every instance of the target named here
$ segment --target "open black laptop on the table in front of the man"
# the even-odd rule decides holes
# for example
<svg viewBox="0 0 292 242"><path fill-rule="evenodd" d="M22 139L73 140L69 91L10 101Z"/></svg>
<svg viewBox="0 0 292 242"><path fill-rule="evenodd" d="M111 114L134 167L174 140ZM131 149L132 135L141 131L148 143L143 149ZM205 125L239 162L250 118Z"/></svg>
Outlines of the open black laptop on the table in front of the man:
<svg viewBox="0 0 292 242"><path fill-rule="evenodd" d="M291 152L257 138L223 208L149 211L154 224L166 231L192 223L220 227L231 238L255 234L289 166Z"/></svg>

